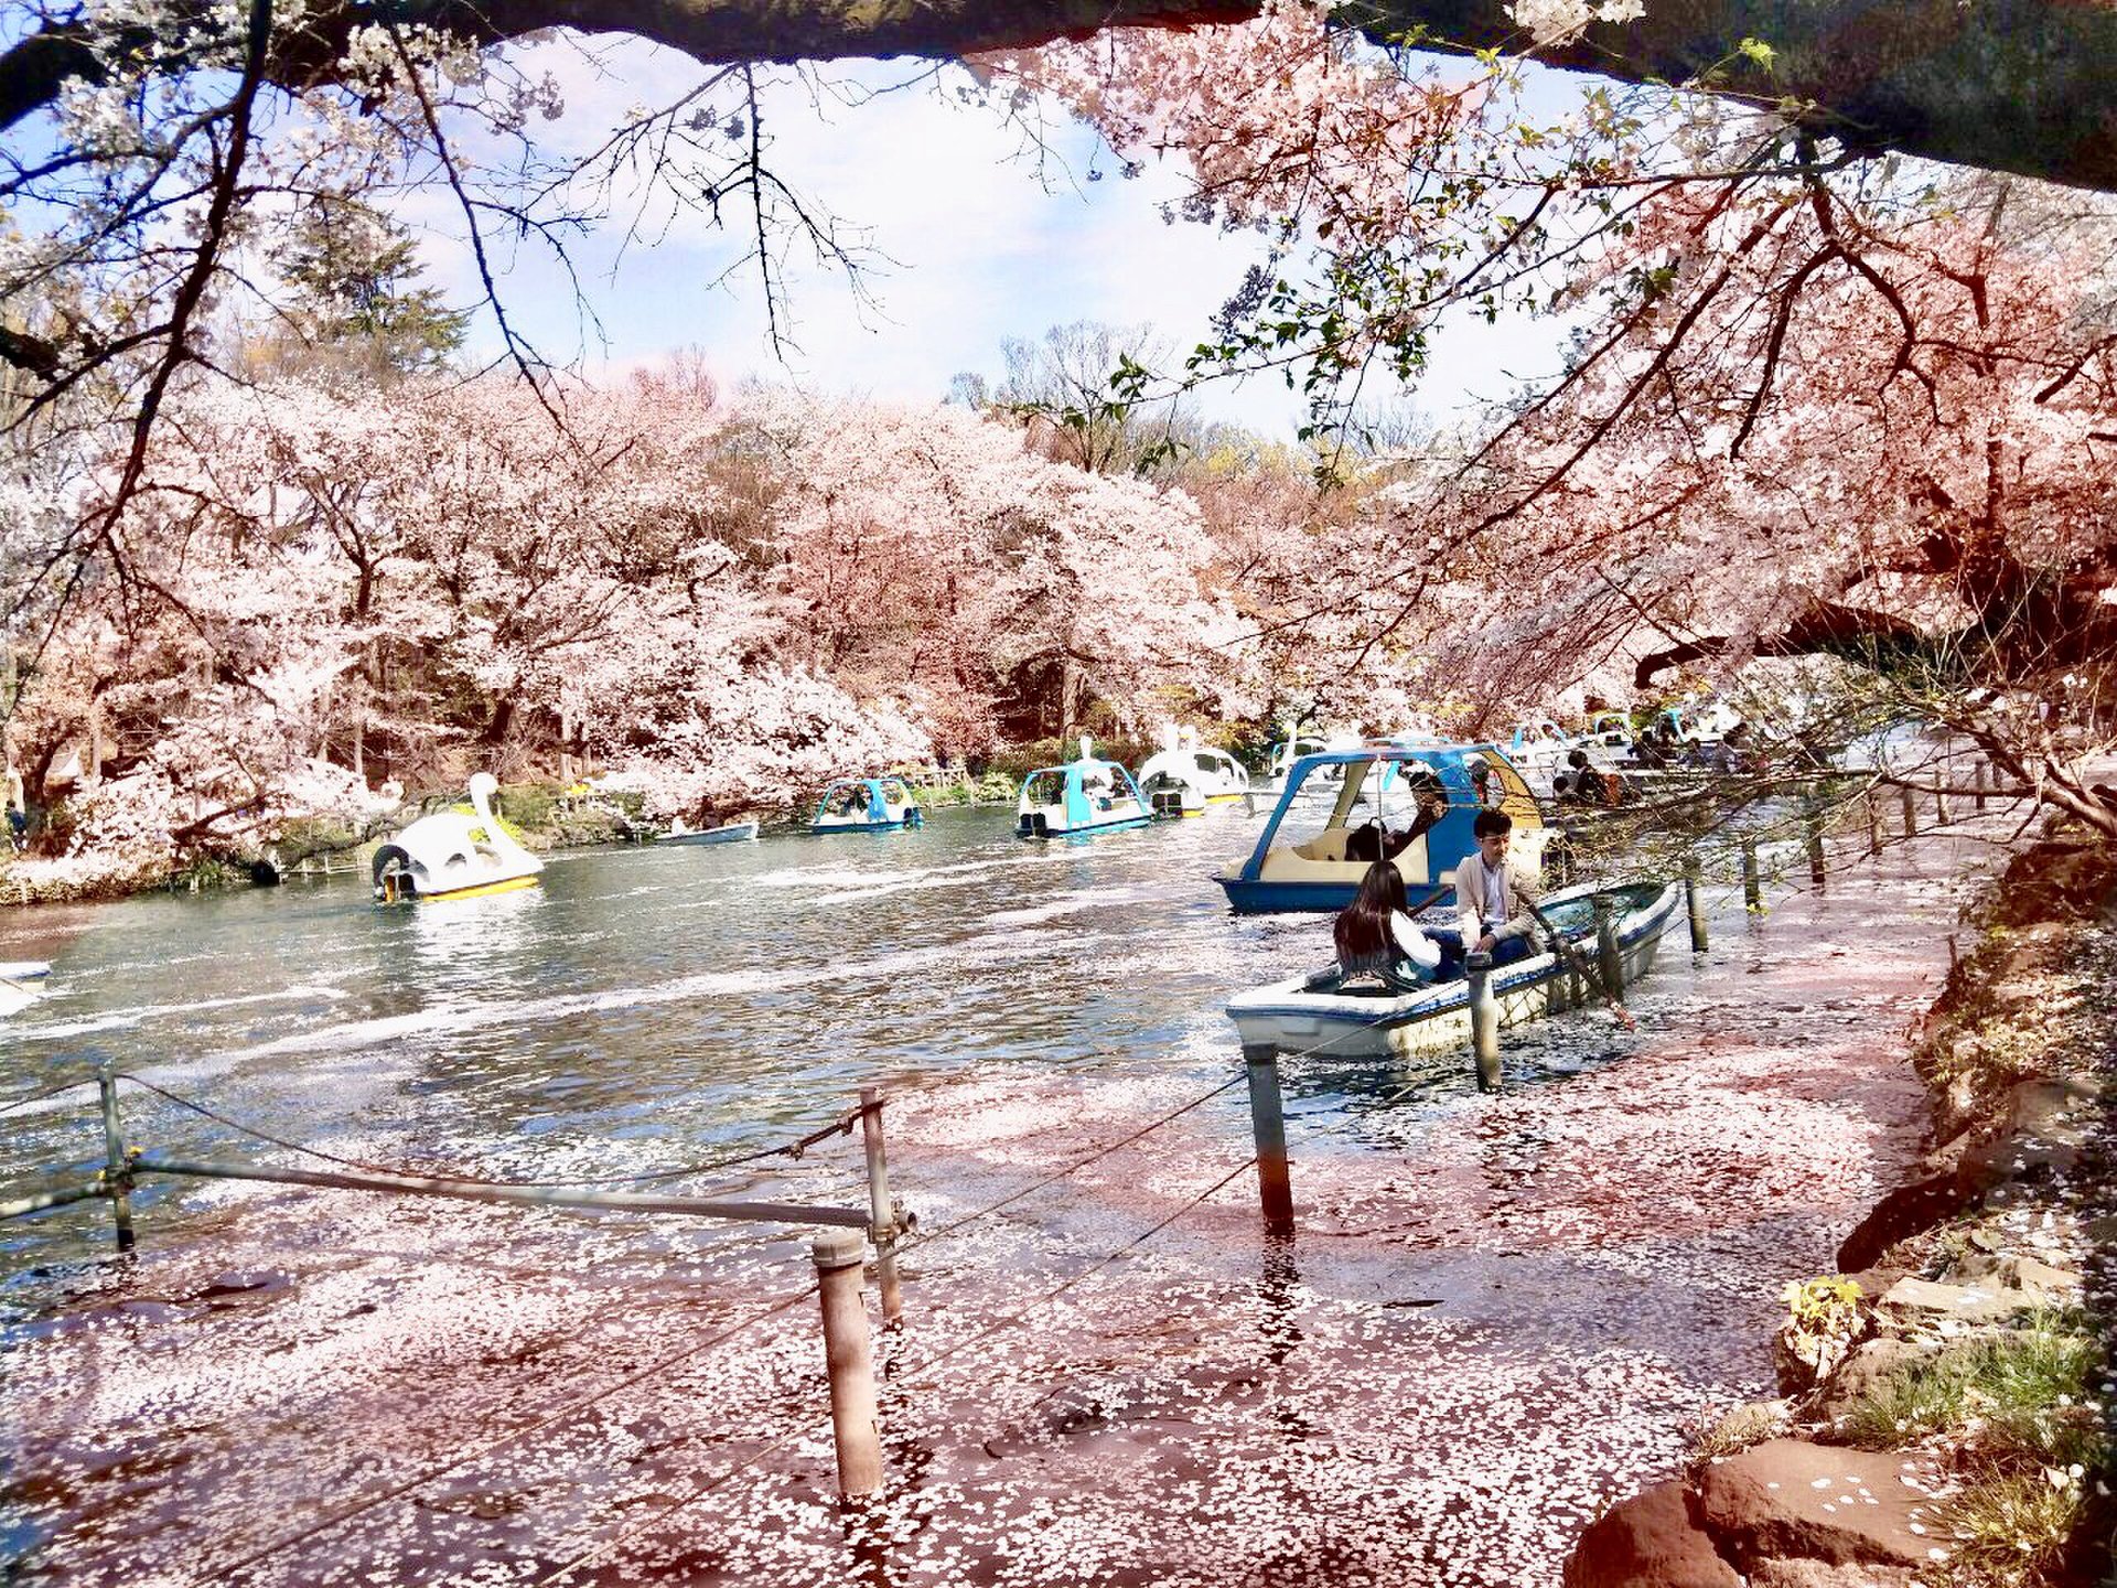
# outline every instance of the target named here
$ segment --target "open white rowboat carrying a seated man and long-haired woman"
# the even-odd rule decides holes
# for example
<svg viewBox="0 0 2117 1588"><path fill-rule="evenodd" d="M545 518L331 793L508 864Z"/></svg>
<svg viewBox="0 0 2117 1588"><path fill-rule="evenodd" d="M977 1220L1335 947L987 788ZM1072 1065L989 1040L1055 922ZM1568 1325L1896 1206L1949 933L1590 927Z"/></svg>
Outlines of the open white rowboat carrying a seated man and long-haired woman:
<svg viewBox="0 0 2117 1588"><path fill-rule="evenodd" d="M1588 966L1596 963L1596 891L1594 885L1569 887L1548 894L1539 904L1545 919ZM1653 968L1662 934L1683 904L1683 883L1603 887L1600 894L1613 906L1611 925L1617 934L1617 953L1624 957L1624 982L1630 987ZM1435 930L1427 936L1461 949L1454 932ZM1448 963L1461 959L1450 957ZM1588 978L1550 949L1497 968L1490 987L1503 1027L1600 1004ZM1456 976L1397 991L1372 978L1342 978L1332 966L1315 976L1293 976L1236 995L1228 1004L1228 1018L1243 1033L1243 1046L1270 1044L1281 1052L1319 1048L1346 1057L1433 1052L1469 1040L1469 982Z"/></svg>

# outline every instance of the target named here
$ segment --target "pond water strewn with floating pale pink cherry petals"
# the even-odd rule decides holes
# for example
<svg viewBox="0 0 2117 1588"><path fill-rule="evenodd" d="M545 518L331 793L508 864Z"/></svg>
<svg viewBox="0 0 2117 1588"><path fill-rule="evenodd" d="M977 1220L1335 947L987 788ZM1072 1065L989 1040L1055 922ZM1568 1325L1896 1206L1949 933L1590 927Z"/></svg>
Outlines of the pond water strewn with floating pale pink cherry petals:
<svg viewBox="0 0 2117 1588"><path fill-rule="evenodd" d="M1639 1035L1507 1033L1503 1097L1467 1054L1287 1061L1285 1247L1219 1006L1327 921L1226 915L1205 872L1253 834L955 811L413 910L337 883L11 917L0 959L55 970L0 1027L0 1105L108 1057L345 1158L567 1179L883 1084L923 1230L876 1340L891 1488L853 1514L804 1232L193 1181L135 1198L123 1260L97 1203L0 1226L11 1580L1556 1584L1685 1421L1768 1391L1778 1287L1914 1154L1903 1031L1979 851L1763 921L1715 894ZM169 1156L298 1162L125 1109ZM0 1118L0 1196L97 1158L80 1095ZM669 1184L864 1198L857 1137Z"/></svg>

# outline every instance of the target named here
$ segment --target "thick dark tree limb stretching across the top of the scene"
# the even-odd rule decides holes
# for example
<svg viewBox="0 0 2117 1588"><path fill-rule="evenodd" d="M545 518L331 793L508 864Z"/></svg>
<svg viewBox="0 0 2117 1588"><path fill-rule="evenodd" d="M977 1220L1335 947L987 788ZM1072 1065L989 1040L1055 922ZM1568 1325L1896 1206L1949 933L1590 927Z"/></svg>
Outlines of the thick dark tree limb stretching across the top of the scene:
<svg viewBox="0 0 2117 1588"><path fill-rule="evenodd" d="M203 0L201 2L201 11ZM1594 25L1556 66L1630 83L1706 83L1761 104L1816 106L1816 131L1861 150L2117 191L2117 6L2081 0L1645 0ZM1238 21L1255 0L318 0L273 59L288 85L328 76L354 25L396 19L481 40L540 28L622 32L699 61L847 55L951 57L1111 25ZM1505 0L1359 0L1340 15L1376 38L1520 47ZM1755 38L1763 66L1742 53ZM142 49L152 40L142 36ZM95 78L78 28L55 23L0 53L0 127Z"/></svg>

